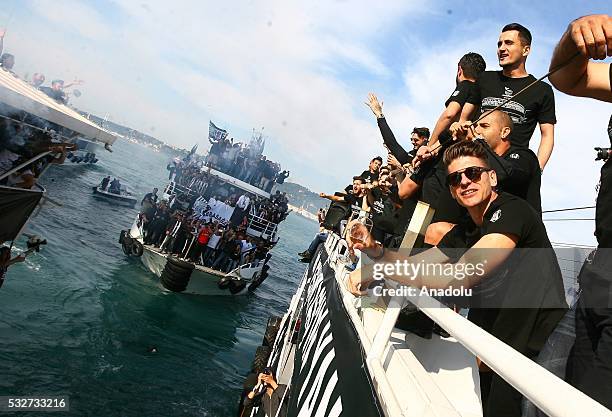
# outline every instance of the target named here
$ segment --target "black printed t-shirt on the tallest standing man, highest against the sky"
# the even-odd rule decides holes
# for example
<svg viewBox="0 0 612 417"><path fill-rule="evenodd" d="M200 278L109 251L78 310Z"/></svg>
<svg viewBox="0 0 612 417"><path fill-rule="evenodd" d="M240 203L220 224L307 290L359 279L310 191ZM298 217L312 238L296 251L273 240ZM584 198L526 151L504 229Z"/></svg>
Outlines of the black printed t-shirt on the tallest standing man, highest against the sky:
<svg viewBox="0 0 612 417"><path fill-rule="evenodd" d="M501 71L485 71L478 77L467 102L480 106L480 111L474 116L477 118L487 110L502 104L535 80L533 75L510 78ZM529 141L538 123L557 122L552 87L543 81L539 81L516 99L504 104L501 110L508 113L514 123L510 140L515 146L529 147Z"/></svg>

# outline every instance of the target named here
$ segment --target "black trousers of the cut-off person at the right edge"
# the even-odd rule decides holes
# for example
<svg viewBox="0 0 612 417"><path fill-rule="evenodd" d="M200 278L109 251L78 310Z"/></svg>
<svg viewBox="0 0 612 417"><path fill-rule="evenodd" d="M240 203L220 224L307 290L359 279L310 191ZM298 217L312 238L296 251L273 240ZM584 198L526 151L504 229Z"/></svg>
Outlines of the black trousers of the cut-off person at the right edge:
<svg viewBox="0 0 612 417"><path fill-rule="evenodd" d="M597 250L580 271L576 342L567 381L612 410L612 249Z"/></svg>

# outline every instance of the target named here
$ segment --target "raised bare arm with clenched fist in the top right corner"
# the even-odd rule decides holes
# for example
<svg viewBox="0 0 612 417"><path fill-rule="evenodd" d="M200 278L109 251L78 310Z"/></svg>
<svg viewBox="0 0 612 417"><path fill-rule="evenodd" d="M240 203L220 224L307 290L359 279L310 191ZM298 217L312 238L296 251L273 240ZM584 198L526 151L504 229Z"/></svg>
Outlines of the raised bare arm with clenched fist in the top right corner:
<svg viewBox="0 0 612 417"><path fill-rule="evenodd" d="M575 56L576 53L579 55ZM606 56L612 56L612 17L581 17L570 23L561 37L550 69L571 61L548 79L555 88L566 94L612 102L610 64L590 61Z"/></svg>

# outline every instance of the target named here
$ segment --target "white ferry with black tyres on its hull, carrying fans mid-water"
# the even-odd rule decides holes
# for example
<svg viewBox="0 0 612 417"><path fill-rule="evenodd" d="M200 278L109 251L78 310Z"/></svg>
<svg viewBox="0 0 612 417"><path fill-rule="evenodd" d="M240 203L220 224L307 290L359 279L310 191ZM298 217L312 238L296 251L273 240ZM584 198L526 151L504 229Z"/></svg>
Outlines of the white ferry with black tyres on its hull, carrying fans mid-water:
<svg viewBox="0 0 612 417"><path fill-rule="evenodd" d="M192 149L191 154L195 152L195 149L196 147ZM206 158L206 161L208 160L209 158ZM173 163L177 163L176 158ZM227 172L222 172L220 169L215 169L207 162L203 163L199 169L200 172L206 173L210 181L218 184L217 189L237 188L248 195L251 201L258 197L268 199L271 196L270 192ZM164 190L162 200L193 200L195 198L203 198L202 192L171 181ZM216 209L216 213L210 212L209 214L211 218L228 223L234 208L224 204L222 206L224 206L222 209ZM245 234L267 242L269 248L273 247L279 241L278 224L259 216L253 206L250 207L250 211L246 213ZM271 258L269 252L264 259L239 265L227 273L188 261L186 255L194 244L195 238L194 235L185 243L179 256L163 253L154 245L145 244L142 224L137 218L131 229L121 231L119 243L126 255L140 257L147 269L160 279L162 288L171 292L211 296L246 295L255 291L268 277Z"/></svg>

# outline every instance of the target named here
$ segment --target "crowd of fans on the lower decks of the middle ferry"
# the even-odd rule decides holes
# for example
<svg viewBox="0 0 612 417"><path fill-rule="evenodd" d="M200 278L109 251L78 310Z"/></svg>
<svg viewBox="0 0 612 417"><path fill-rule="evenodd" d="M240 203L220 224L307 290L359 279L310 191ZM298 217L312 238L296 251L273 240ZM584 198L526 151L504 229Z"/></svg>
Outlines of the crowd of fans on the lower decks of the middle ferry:
<svg viewBox="0 0 612 417"><path fill-rule="evenodd" d="M173 161L168 170L174 197L158 202L155 189L142 200L145 244L224 272L265 258L272 243L247 236L249 216L259 222L254 227L265 227L262 220L280 223L289 211L285 193L249 196L191 158ZM231 210L229 220L219 215L223 209Z"/></svg>

